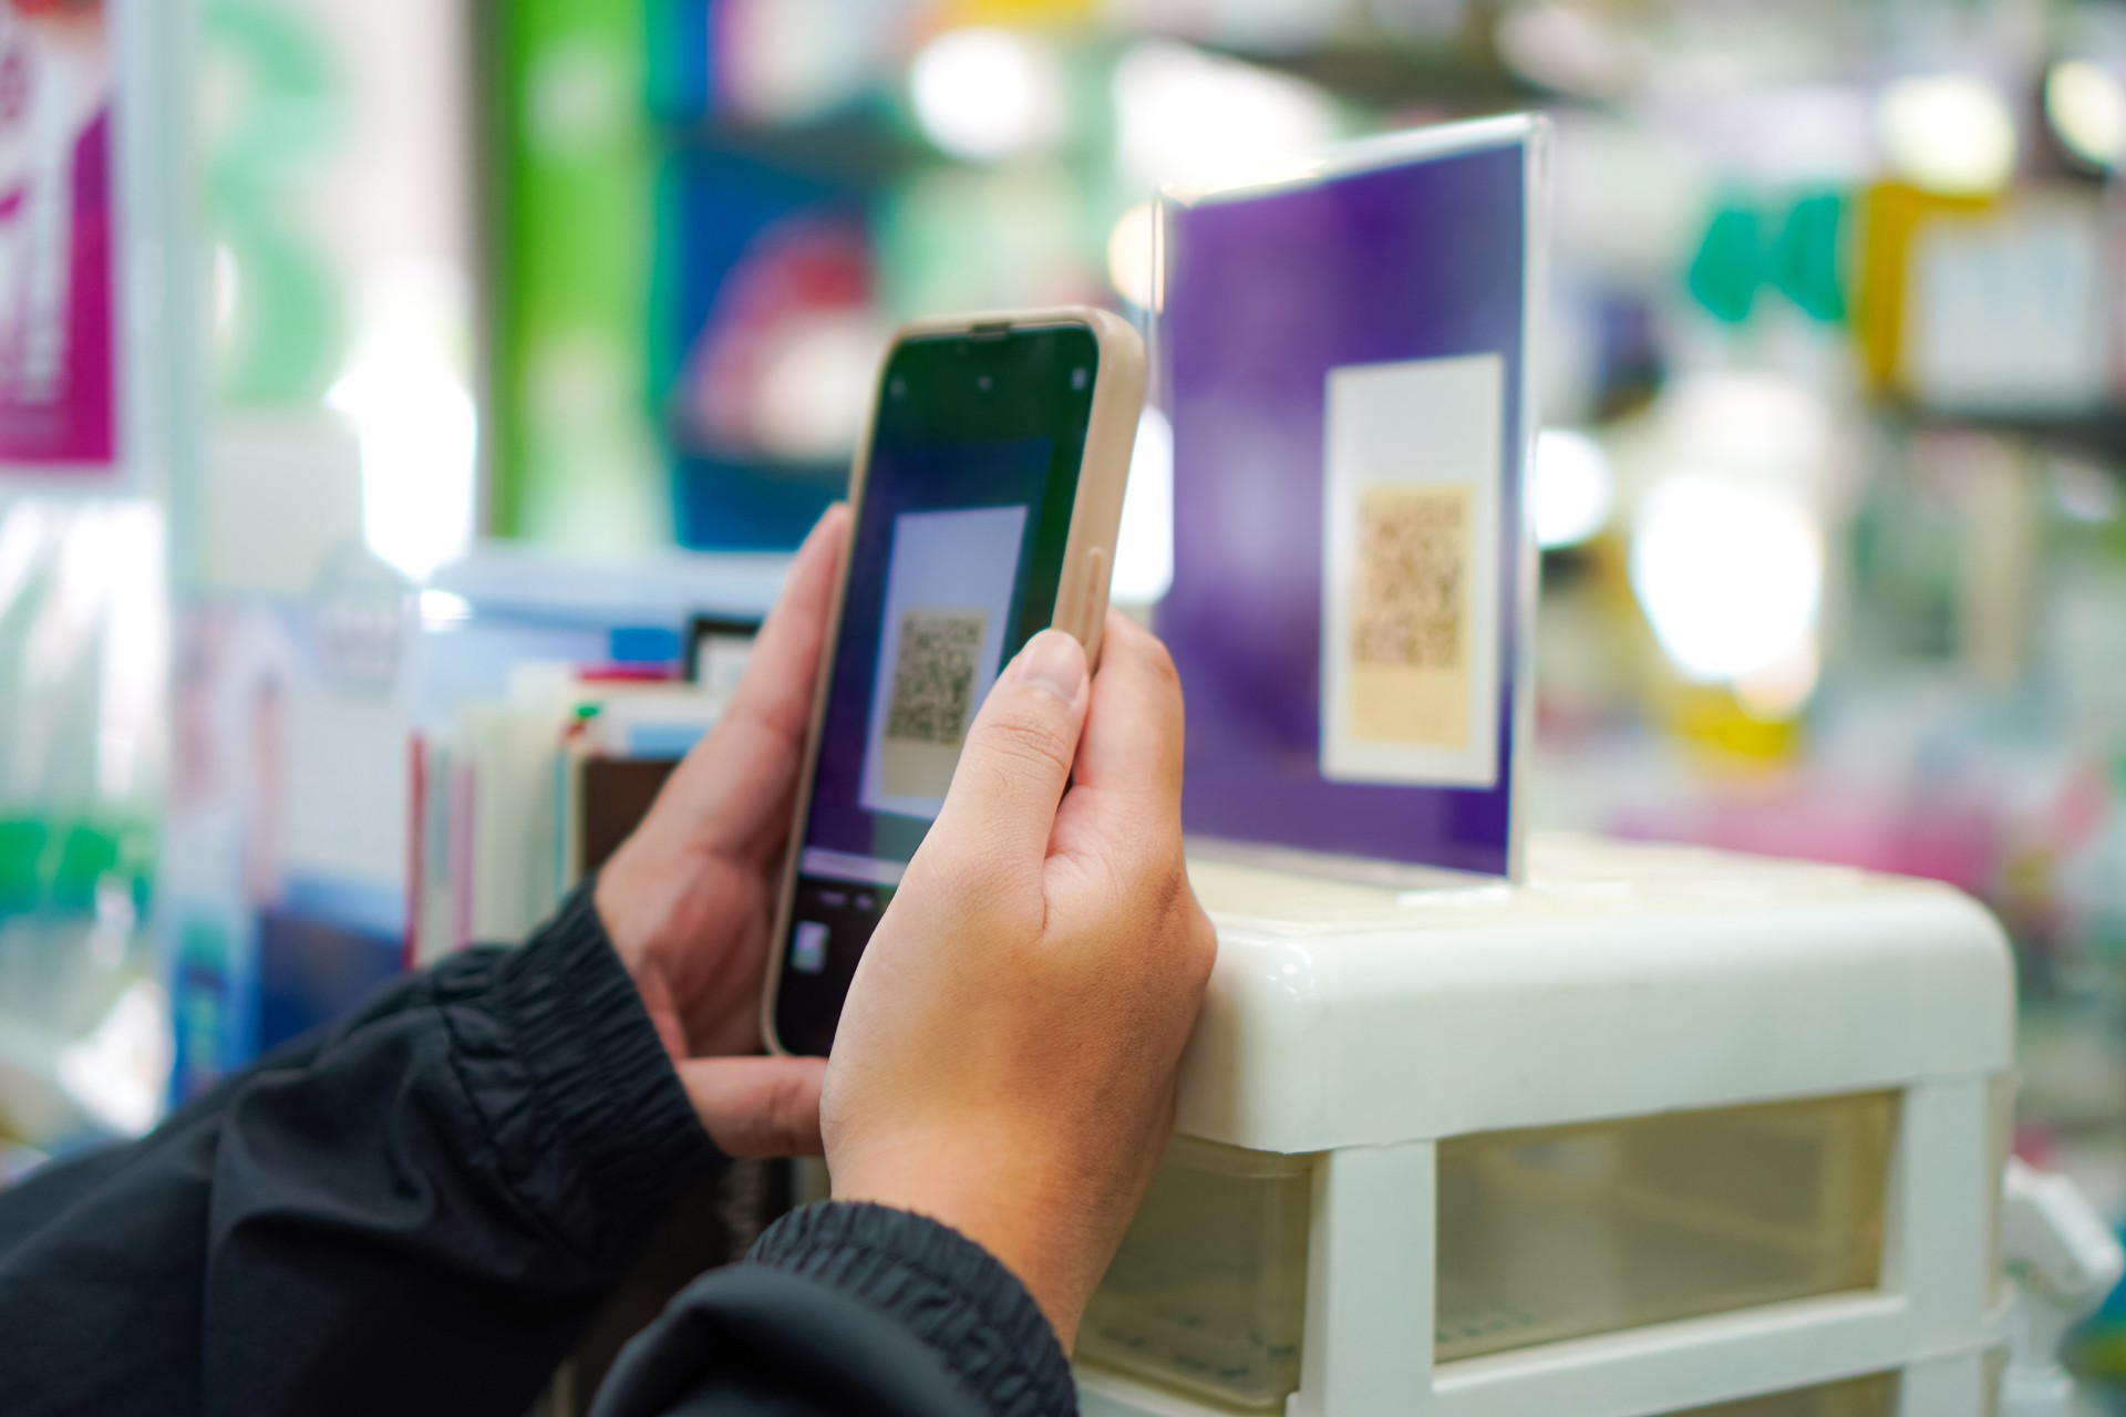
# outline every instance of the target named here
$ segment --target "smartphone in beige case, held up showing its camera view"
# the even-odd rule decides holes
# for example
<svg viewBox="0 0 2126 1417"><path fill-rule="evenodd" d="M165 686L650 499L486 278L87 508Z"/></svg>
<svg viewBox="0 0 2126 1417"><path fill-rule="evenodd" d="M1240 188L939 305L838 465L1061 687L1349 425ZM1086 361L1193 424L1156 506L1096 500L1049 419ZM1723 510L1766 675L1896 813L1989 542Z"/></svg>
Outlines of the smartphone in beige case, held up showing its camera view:
<svg viewBox="0 0 2126 1417"><path fill-rule="evenodd" d="M770 937L776 1052L833 1043L999 669L1048 627L1099 654L1142 412L1144 342L1106 310L918 323L889 346Z"/></svg>

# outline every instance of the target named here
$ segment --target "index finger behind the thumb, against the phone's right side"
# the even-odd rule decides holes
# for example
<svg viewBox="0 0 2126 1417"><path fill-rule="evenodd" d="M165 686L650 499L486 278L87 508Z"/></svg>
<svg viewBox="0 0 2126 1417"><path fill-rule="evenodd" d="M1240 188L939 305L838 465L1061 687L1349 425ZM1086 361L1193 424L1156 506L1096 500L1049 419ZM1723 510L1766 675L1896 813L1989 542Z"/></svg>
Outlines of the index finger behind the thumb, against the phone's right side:
<svg viewBox="0 0 2126 1417"><path fill-rule="evenodd" d="M1167 646L1123 612L1108 612L1078 788L1178 814L1182 737L1182 682Z"/></svg>

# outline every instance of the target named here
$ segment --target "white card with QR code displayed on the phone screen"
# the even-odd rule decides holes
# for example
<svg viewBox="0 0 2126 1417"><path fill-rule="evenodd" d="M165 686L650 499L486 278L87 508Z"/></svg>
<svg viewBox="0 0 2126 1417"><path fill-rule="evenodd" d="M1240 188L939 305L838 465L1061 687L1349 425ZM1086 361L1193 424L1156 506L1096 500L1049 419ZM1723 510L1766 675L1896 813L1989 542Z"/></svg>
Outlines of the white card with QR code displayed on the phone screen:
<svg viewBox="0 0 2126 1417"><path fill-rule="evenodd" d="M893 518L861 803L935 818L997 682L1027 508Z"/></svg>

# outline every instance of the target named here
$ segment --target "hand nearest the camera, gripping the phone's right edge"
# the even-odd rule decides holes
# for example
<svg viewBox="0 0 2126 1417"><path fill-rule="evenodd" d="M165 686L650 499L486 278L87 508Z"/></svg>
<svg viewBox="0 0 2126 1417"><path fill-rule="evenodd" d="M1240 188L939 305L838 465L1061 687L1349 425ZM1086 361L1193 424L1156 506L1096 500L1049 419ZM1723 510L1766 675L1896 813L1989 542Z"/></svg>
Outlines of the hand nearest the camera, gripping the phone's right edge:
<svg viewBox="0 0 2126 1417"><path fill-rule="evenodd" d="M1040 635L963 769L857 969L827 1166L836 1200L1003 1260L1067 1351L1174 1124L1216 954L1182 865L1174 663L1114 616L1089 682L1072 637Z"/></svg>

